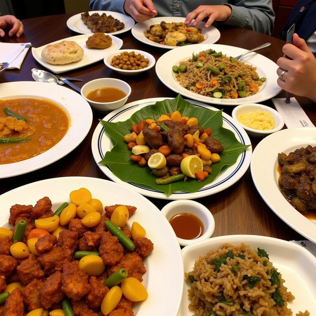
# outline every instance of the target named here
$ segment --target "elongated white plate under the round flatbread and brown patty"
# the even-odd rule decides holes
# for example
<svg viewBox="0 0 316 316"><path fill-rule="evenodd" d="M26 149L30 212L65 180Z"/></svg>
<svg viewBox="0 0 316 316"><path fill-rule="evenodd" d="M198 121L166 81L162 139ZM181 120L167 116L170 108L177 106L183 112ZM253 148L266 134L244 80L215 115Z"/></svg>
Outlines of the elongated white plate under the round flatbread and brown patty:
<svg viewBox="0 0 316 316"><path fill-rule="evenodd" d="M88 48L86 46L86 40L88 39L89 36L91 36L91 34L76 35L76 36L67 37L65 39L57 40L55 42L48 43L46 45L43 45L37 48L32 47L33 57L38 63L40 63L42 66L44 66L48 70L51 70L55 74L60 74L62 72L75 70L75 69L96 63L97 61L102 60L108 52L117 51L123 45L123 41L121 39L119 39L116 36L110 35L112 38L112 45L110 47L104 48L104 49ZM79 46L81 46L83 48L82 59L74 63L65 64L65 65L52 65L52 64L46 63L41 57L43 48L50 44L60 43L63 40L73 41L73 42L76 42Z"/></svg>

